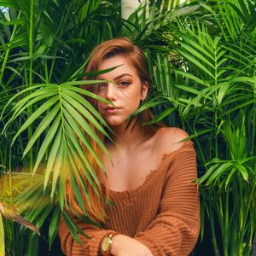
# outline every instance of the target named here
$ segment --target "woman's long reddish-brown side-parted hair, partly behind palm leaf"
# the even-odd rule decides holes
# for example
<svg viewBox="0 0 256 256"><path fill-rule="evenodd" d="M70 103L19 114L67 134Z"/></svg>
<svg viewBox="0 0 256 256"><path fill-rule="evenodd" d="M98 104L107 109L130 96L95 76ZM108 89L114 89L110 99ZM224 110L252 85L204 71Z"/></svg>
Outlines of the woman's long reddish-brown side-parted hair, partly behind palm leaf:
<svg viewBox="0 0 256 256"><path fill-rule="evenodd" d="M137 74L141 79L141 82L148 82L151 84L150 75L148 73L148 63L146 61L145 56L143 55L142 49L140 49L136 44L132 44L128 38L113 38L108 41L103 42L96 46L93 49L90 55L90 61L88 62L87 66L85 67L85 72L96 72L98 71L100 63L103 60L113 57L114 55L124 55L127 58L131 67L137 70ZM84 79L97 79L96 77L86 77ZM90 90L96 93L96 84L92 85L82 85L84 90ZM95 108L97 108L97 102L95 99L86 98ZM139 124L147 123L154 118L153 113L150 110L144 110L140 113L137 117L137 121ZM96 132L96 135L104 142L104 137L102 133L96 130L94 125L90 124L91 128ZM162 124L156 125L143 125L143 131L149 131L150 133L154 134ZM94 148L96 154L102 159L102 149L97 145L97 143L92 140L89 136L87 137L88 141ZM109 193L107 187L107 178L105 177L104 173L102 172L100 166L96 163L96 160L92 156L92 154L88 151L87 148L84 147L84 151L90 160L91 165L93 166L96 175L100 181L100 186L95 184L98 193L96 193L95 189L92 188L90 183L88 182L87 178L84 177L84 183L88 189L88 195L90 196L90 201L86 199L84 195L84 207L86 208L87 215L95 221L103 222L108 218L107 213L105 212L106 203L109 200ZM83 172L81 172L83 173ZM79 180L78 180L79 183ZM72 185L67 182L67 205L72 210L74 214L84 214L84 211L79 207L78 201L75 199L74 191Z"/></svg>

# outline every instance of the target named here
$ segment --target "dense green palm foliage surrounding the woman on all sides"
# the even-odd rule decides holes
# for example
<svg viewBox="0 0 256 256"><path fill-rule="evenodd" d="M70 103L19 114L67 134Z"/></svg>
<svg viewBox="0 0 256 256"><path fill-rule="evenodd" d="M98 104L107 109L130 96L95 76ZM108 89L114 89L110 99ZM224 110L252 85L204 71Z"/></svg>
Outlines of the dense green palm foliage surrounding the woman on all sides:
<svg viewBox="0 0 256 256"><path fill-rule="evenodd" d="M72 143L71 131L80 138L79 127L90 133L83 121L88 115L79 113L92 113L97 129L103 122L79 97L79 80L91 49L123 36L143 48L153 78L138 112L152 108L154 121L185 129L195 143L201 241L194 255L250 255L256 225L255 1L152 0L128 20L121 4L0 0L0 170L8 180L4 188L1 183L0 202L14 206L42 235L3 218L6 255L61 255L55 239L63 211L61 161L73 166L63 148L84 156ZM90 171L85 174L96 184ZM78 188L74 180L73 186Z"/></svg>

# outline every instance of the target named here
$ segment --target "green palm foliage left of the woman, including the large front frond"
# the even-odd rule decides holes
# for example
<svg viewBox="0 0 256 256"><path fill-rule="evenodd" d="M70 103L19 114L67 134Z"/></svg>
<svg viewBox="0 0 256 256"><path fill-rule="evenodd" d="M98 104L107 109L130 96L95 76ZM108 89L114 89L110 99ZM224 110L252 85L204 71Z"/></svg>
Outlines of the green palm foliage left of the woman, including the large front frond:
<svg viewBox="0 0 256 256"><path fill-rule="evenodd" d="M83 127L104 149L104 145L97 140L87 123L89 119L100 131L106 133L102 126L98 125L98 120L102 118L79 94L78 90L81 89L78 85L85 82L75 79L82 78L79 73L84 69L90 49L102 40L113 37L113 32L122 20L115 18L119 14L119 5L113 1L1 1L0 5L2 4L9 9L1 11L1 112L4 111L1 124L1 164L6 175L12 178L10 186L1 189L4 191L1 201L5 204L12 202L18 212L38 228L51 216L50 246L56 236L60 207L63 210L64 201L63 185L59 185L58 173L66 164L74 166L70 153L68 156L70 150L75 150L73 153L77 153L76 159L84 160L83 164L90 170L85 172L85 175L90 178L96 189L96 177L86 155L79 148L78 138L73 131L79 132L80 136L82 133L78 127ZM102 22L104 20L106 22ZM96 32L100 33L97 35ZM64 90L62 84L66 86L63 87ZM67 95L65 90L70 90L71 93ZM66 104L63 96L69 97L69 103ZM73 96L76 100L73 100ZM70 101L73 102L71 105ZM66 104L65 108L63 103ZM71 108L76 120L69 119ZM79 113L76 110L78 108ZM81 110L84 110L86 119L80 115ZM73 122L69 123L67 119ZM100 122L104 124L103 120ZM65 138L62 137L64 130L67 132ZM18 137L14 136L14 133ZM83 134L80 139L85 148L93 150ZM72 148L65 148L66 143ZM98 160L97 156L95 157ZM46 162L48 170L44 170L44 176L43 171L37 171L41 161ZM22 171L37 171L38 176L27 178L26 174L23 175L25 179L19 176L17 178L21 180L21 184L16 186L13 184L16 178L13 171L18 166L22 166ZM51 173L53 166L55 175ZM63 177L65 172L61 174ZM76 195L81 196L74 180L73 185L77 191ZM23 188L23 192L15 196L15 192L20 192L20 188ZM43 195L47 199L45 203ZM55 202L59 203L56 207ZM38 236L17 232L17 227L9 222L5 226L5 249L8 255L39 253ZM77 236L74 232L73 234ZM26 236L29 236L30 242L22 243L27 239ZM42 236L45 235L42 233ZM48 237L43 239L48 240ZM20 244L15 245L13 241L20 241ZM3 244L1 242L2 246ZM35 246L37 244L38 246Z"/></svg>

